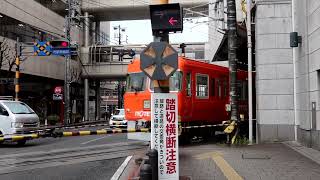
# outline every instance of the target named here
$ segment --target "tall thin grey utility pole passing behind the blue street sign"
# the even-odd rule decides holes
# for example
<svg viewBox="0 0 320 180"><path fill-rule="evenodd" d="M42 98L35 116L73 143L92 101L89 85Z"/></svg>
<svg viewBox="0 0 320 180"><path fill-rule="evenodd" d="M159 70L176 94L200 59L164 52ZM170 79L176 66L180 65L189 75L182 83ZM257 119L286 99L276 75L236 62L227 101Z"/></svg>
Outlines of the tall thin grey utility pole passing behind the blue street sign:
<svg viewBox="0 0 320 180"><path fill-rule="evenodd" d="M70 20L71 20L71 1L68 0L68 15L65 17L65 38L68 43L68 48L70 48ZM64 69L64 125L68 125L70 122L70 82L69 82L69 70L70 70L70 55L64 56L65 69Z"/></svg>

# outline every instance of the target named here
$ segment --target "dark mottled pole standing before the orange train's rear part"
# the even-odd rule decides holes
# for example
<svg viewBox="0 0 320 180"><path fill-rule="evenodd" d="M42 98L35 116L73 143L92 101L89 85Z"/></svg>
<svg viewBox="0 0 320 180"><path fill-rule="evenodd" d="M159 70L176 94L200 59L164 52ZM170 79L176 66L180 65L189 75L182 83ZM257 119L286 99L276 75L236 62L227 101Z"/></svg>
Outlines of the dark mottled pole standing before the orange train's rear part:
<svg viewBox="0 0 320 180"><path fill-rule="evenodd" d="M237 92L237 19L235 0L227 0L227 24L228 24L228 59L230 75L230 104L231 121L239 121L238 118L238 92Z"/></svg>

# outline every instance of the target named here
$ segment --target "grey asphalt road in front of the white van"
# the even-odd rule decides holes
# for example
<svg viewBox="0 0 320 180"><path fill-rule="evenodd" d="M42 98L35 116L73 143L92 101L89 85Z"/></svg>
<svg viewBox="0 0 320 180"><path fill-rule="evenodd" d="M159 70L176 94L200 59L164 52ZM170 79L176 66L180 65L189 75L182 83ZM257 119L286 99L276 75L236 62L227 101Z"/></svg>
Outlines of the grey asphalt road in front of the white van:
<svg viewBox="0 0 320 180"><path fill-rule="evenodd" d="M109 180L127 156L147 147L126 134L41 138L21 147L5 143L0 179Z"/></svg>

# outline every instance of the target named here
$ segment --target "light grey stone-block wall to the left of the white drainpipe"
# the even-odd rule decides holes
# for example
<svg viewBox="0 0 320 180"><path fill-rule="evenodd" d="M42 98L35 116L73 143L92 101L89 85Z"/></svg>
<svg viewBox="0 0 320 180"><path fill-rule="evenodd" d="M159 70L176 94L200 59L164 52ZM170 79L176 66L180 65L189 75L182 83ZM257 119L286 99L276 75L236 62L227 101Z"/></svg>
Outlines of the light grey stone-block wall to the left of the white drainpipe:
<svg viewBox="0 0 320 180"><path fill-rule="evenodd" d="M291 3L258 0L256 95L260 142L294 139Z"/></svg>

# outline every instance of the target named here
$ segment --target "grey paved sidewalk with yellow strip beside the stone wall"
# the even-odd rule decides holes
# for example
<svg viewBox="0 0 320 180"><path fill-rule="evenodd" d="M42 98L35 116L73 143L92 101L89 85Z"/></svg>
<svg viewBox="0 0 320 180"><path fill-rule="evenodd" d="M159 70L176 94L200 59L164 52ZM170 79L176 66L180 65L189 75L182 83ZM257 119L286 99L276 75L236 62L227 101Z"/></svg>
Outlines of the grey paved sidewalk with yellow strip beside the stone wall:
<svg viewBox="0 0 320 180"><path fill-rule="evenodd" d="M180 180L320 179L320 151L293 142L238 147L194 144L180 146L179 151ZM132 168L137 168L134 158L125 172Z"/></svg>

